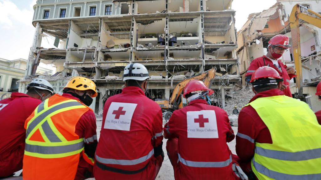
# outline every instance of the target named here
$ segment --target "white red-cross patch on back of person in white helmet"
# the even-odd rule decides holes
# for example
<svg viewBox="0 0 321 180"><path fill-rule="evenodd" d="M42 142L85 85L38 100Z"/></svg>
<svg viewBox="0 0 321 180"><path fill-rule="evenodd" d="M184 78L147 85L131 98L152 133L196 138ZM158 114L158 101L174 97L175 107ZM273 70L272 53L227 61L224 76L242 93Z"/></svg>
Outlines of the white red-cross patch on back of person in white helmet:
<svg viewBox="0 0 321 180"><path fill-rule="evenodd" d="M129 131L137 104L112 102L109 106L104 129Z"/></svg>

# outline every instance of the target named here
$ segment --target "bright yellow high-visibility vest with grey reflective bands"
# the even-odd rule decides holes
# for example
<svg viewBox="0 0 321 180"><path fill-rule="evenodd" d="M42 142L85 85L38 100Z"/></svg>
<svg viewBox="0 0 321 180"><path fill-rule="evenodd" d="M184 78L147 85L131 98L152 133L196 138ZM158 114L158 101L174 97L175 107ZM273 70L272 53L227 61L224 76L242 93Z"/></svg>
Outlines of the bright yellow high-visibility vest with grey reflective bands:
<svg viewBox="0 0 321 180"><path fill-rule="evenodd" d="M281 95L258 98L249 105L273 142L255 143L252 170L258 179L320 179L321 126L308 104Z"/></svg>

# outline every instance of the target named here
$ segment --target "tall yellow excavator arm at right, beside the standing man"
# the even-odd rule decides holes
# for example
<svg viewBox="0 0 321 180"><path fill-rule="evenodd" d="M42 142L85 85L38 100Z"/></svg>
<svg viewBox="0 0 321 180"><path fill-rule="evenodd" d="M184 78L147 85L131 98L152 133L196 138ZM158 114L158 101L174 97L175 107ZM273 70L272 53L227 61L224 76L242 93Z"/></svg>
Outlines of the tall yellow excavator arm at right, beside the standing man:
<svg viewBox="0 0 321 180"><path fill-rule="evenodd" d="M303 10L301 12L301 10ZM308 12L305 13L304 11ZM306 102L306 98L303 97L303 86L302 86L302 61L301 61L301 45L300 45L300 23L299 20L304 20L318 28L321 28L321 14L312 11L300 4L296 4L291 12L289 21L291 27L292 36L292 49L293 59L295 62L295 69L297 71L296 85L298 88L297 98L301 101Z"/></svg>

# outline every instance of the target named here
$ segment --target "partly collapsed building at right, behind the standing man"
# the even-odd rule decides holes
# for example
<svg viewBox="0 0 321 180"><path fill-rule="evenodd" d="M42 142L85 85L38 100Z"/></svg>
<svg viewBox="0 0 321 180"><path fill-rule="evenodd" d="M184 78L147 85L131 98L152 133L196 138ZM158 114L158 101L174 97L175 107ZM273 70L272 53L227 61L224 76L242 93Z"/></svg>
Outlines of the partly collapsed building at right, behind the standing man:
<svg viewBox="0 0 321 180"><path fill-rule="evenodd" d="M238 31L238 48L240 76L242 84L245 85L246 71L254 59L261 57L267 53L268 41L275 35L284 34L290 38L292 45L291 28L289 24L289 16L295 4L301 4L314 12L321 14L321 6L319 1L289 1L277 0L267 10L260 13L252 13L249 15L247 22ZM301 8L301 12L307 10ZM301 58L302 58L302 76L303 76L303 95L308 97L308 103L312 110L320 109L321 102L315 95L316 86L320 82L320 61L321 50L320 41L321 29L300 20L300 40L301 40ZM287 66L294 67L293 50L285 52L282 56L282 62ZM295 85L295 78L291 79L291 92L293 96L298 93Z"/></svg>

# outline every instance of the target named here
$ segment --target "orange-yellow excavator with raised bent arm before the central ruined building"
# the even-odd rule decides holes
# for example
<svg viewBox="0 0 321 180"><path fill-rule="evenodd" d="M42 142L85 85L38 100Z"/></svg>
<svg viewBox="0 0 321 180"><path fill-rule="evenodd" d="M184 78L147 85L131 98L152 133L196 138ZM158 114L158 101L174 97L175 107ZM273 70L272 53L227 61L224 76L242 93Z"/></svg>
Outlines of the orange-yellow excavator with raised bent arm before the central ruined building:
<svg viewBox="0 0 321 180"><path fill-rule="evenodd" d="M216 70L212 68L199 75L184 79L175 86L173 89L173 94L169 100L156 99L155 102L160 105L165 120L169 120L174 110L187 106L187 100L183 97L183 90L190 80L204 81L205 86L210 88L213 83L213 78L215 77L215 72Z"/></svg>

